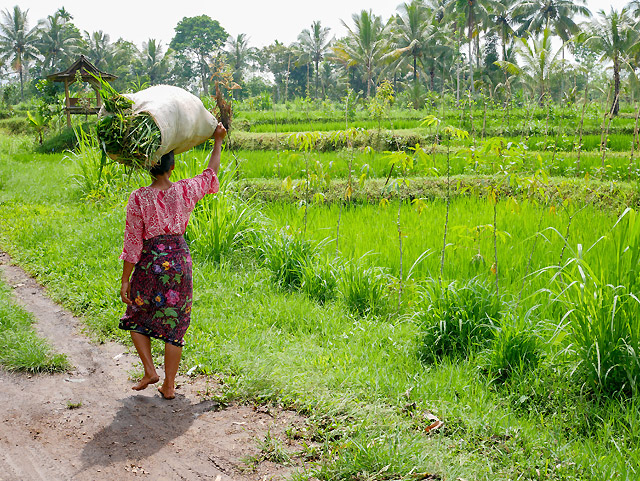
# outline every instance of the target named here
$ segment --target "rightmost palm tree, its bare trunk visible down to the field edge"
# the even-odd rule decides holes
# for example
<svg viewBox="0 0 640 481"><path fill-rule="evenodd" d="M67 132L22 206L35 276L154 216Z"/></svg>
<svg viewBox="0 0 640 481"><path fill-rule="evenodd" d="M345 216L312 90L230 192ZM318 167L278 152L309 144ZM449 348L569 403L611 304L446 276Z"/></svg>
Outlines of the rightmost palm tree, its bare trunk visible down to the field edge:
<svg viewBox="0 0 640 481"><path fill-rule="evenodd" d="M620 110L620 70L626 66L633 71L631 53L637 50L640 33L626 8L618 12L611 7L609 13L600 10L598 17L591 22L584 38L600 53L601 61L613 63L613 104L610 112L617 115Z"/></svg>

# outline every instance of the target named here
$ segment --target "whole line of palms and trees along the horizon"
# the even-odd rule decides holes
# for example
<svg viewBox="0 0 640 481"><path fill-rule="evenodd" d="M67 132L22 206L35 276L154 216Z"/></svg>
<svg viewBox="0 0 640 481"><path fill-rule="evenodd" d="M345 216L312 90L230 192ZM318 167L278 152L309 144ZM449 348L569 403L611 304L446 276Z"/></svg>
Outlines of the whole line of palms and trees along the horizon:
<svg viewBox="0 0 640 481"><path fill-rule="evenodd" d="M201 15L178 22L169 45L150 38L138 48L80 31L64 7L31 27L28 9L15 6L0 19L0 86L5 103L24 100L39 79L84 54L121 89L169 83L209 94L226 78L236 98L268 92L283 102L368 98L388 80L420 108L445 94L457 103L477 95L572 101L591 86L617 114L638 90L639 21L640 0L596 14L585 0L413 0L387 20L354 13L341 38L316 21L290 45L255 48L248 34L229 36Z"/></svg>

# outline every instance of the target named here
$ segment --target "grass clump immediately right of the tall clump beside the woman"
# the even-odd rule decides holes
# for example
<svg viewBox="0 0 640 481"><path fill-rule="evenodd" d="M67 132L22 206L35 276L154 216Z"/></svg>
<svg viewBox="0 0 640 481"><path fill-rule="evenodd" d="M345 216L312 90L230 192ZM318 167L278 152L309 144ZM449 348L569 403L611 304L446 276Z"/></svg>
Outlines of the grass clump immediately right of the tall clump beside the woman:
<svg viewBox="0 0 640 481"><path fill-rule="evenodd" d="M302 287L304 272L320 251L318 243L282 231L265 236L259 249L272 279L289 290Z"/></svg>

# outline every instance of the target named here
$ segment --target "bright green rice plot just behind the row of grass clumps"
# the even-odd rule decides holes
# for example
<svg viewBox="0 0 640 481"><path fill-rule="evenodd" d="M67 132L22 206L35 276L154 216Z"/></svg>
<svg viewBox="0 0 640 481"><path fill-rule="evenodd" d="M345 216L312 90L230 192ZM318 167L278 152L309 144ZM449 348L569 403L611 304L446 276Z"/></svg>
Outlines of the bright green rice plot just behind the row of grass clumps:
<svg viewBox="0 0 640 481"><path fill-rule="evenodd" d="M369 265L387 267L395 275L400 270L397 230L397 201L391 204L353 205L342 209L338 246L346 259L365 256ZM560 262L564 245L558 233L564 235L569 217L580 206L549 209L535 203L518 204L504 201L498 205L498 262L500 281L516 293L533 251L528 272L532 273ZM301 208L288 202L263 206L264 214L278 227L291 232L304 230ZM414 269L414 278L438 277L444 235L446 204L442 199L425 201L420 208L404 203L401 209L403 235L403 263L405 275L425 251L424 258ZM340 207L337 204L313 205L308 211L307 237L317 241L329 239L327 253L335 252L335 238ZM451 204L449 232L444 269L445 279L469 279L479 276L491 281L494 262L493 205L488 199L457 197ZM613 226L615 213L587 207L574 217L571 225L572 242L591 245ZM542 226L539 229L539 226ZM535 245L534 245L535 244ZM597 253L596 253L597 252ZM591 255L601 255L596 249ZM535 278L533 279L535 280Z"/></svg>

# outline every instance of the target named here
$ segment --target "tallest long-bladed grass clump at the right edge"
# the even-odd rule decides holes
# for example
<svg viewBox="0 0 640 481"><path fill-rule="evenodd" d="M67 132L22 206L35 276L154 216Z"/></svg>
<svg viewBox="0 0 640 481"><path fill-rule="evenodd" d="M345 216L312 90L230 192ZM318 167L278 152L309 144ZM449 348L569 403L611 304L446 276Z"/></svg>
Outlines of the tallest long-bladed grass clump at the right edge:
<svg viewBox="0 0 640 481"><path fill-rule="evenodd" d="M552 278L568 322L576 372L604 394L640 384L640 222L626 209L610 232L576 251Z"/></svg>

